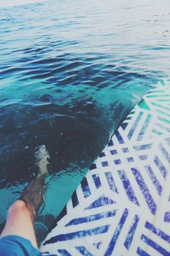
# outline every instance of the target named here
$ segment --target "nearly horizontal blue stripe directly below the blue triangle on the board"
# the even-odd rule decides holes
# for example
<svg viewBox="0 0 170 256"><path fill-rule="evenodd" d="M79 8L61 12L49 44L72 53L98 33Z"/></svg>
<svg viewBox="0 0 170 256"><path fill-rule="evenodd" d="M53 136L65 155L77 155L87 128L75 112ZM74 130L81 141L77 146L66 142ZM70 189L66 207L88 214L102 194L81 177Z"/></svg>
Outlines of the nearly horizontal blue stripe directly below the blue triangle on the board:
<svg viewBox="0 0 170 256"><path fill-rule="evenodd" d="M98 221L102 218L109 218L113 217L116 214L116 210L110 210L106 213L97 213L91 216L81 217L81 218L74 218L70 222L66 224L66 226L73 226L73 225L79 225L81 223L88 223L91 221Z"/></svg>

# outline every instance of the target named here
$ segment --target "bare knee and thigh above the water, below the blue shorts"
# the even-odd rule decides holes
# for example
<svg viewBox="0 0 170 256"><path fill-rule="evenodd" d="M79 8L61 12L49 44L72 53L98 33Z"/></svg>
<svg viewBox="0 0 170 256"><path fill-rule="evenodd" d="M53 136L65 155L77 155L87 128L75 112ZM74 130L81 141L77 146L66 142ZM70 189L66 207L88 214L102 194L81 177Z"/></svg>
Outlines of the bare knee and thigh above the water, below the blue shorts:
<svg viewBox="0 0 170 256"><path fill-rule="evenodd" d="M22 200L15 201L8 210L6 224L0 237L8 235L22 236L29 239L32 245L37 248L30 211Z"/></svg>

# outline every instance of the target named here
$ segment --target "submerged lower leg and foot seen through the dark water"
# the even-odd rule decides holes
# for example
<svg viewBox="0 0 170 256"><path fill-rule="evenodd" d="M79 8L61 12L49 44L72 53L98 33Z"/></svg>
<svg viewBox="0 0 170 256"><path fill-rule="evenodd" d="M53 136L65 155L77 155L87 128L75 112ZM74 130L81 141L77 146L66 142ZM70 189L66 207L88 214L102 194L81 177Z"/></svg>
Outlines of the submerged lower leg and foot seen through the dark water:
<svg viewBox="0 0 170 256"><path fill-rule="evenodd" d="M45 145L40 146L40 148L36 150L35 158L39 168L39 173L37 177L33 179L26 188L24 188L22 197L20 198L20 200L23 200L27 205L32 222L35 221L35 217L40 206L45 202L45 176L48 173L47 166L48 159L50 158Z"/></svg>

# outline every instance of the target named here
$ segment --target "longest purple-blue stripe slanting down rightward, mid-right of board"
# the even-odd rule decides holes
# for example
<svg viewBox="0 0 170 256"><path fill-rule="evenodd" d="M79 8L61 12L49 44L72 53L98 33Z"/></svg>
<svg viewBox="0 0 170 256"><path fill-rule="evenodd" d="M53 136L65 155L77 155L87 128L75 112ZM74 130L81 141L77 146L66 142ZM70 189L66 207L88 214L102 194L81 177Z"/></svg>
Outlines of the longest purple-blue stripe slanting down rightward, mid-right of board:
<svg viewBox="0 0 170 256"><path fill-rule="evenodd" d="M143 196L149 209L151 210L151 213L156 214L156 203L154 202L153 197L151 196L149 189L144 182L143 176L141 176L140 171L138 171L137 168L131 168L131 170L133 171L133 175L135 176L136 182L138 182L140 191L143 193Z"/></svg>

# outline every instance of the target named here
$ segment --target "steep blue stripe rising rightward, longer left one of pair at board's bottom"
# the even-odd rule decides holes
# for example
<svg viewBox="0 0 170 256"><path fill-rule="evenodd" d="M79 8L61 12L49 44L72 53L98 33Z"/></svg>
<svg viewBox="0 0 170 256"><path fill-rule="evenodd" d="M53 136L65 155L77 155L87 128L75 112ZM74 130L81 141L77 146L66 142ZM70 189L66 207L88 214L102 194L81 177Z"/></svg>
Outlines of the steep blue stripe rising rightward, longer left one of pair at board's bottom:
<svg viewBox="0 0 170 256"><path fill-rule="evenodd" d="M109 242L109 246L107 247L107 251L104 253L104 256L112 255L112 252L115 248L115 245L117 243L117 239L120 236L120 232L122 230L122 227L125 224L126 218L128 217L128 209L125 208L124 212L122 213L122 217L120 218L120 222L117 225L117 228L115 230L115 233L112 236L111 241Z"/></svg>

